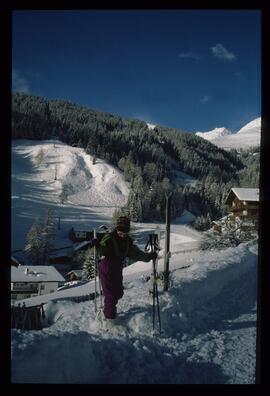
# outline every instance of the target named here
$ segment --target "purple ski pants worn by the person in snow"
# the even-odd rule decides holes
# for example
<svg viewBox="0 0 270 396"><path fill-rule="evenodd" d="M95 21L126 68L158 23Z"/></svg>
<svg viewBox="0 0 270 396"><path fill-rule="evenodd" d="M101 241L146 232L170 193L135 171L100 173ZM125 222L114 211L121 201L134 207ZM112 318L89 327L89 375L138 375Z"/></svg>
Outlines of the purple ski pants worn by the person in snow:
<svg viewBox="0 0 270 396"><path fill-rule="evenodd" d="M119 262L112 262L107 258L101 260L99 264L99 279L104 294L104 315L107 319L116 317L116 305L123 297L123 265Z"/></svg>

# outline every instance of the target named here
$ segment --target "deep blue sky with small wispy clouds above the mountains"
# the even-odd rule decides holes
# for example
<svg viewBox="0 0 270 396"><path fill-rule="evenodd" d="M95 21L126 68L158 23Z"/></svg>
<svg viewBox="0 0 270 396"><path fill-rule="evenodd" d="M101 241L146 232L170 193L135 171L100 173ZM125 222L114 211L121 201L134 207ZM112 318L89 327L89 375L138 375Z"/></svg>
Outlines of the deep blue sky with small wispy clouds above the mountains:
<svg viewBox="0 0 270 396"><path fill-rule="evenodd" d="M13 90L232 131L261 115L259 10L13 12Z"/></svg>

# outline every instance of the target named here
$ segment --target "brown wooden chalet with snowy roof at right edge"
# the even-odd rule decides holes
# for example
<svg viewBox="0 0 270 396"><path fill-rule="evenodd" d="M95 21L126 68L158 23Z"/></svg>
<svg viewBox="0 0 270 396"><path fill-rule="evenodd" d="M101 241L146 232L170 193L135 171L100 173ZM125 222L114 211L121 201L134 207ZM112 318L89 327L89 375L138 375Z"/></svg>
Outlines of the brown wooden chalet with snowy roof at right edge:
<svg viewBox="0 0 270 396"><path fill-rule="evenodd" d="M258 224L259 220L259 189L232 188L225 200L229 211L241 220L249 220Z"/></svg>

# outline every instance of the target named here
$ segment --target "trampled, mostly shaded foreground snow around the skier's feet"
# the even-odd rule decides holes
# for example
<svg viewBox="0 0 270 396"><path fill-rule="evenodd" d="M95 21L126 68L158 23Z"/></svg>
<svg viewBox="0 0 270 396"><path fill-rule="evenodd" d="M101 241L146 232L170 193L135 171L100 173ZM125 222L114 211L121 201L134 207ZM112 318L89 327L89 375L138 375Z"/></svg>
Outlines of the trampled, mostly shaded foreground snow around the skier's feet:
<svg viewBox="0 0 270 396"><path fill-rule="evenodd" d="M50 327L12 330L13 382L254 383L256 246L222 257L201 254L174 271L169 293L160 291L161 336L151 335L148 284L135 275L118 304L122 325L108 333L92 301L49 303Z"/></svg>

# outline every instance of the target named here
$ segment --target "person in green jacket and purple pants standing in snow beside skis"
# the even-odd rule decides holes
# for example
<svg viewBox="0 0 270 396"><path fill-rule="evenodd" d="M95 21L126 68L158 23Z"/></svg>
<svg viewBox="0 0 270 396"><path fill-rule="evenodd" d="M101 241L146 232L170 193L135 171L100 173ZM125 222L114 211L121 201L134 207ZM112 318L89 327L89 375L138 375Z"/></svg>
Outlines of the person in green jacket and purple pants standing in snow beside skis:
<svg viewBox="0 0 270 396"><path fill-rule="evenodd" d="M148 262L157 257L156 252L146 253L140 250L128 235L130 220L120 216L115 229L104 235L98 243L102 260L99 264L99 278L104 294L103 313L107 323L116 318L116 305L123 297L123 266L127 258Z"/></svg>

